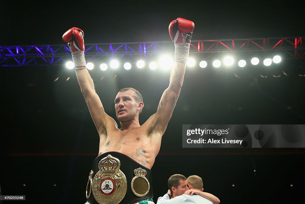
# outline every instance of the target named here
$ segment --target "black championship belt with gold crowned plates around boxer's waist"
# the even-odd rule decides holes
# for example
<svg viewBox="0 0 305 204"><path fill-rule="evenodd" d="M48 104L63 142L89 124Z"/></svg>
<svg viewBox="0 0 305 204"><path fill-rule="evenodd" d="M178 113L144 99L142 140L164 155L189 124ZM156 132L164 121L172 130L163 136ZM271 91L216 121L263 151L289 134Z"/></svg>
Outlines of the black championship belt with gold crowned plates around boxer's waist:
<svg viewBox="0 0 305 204"><path fill-rule="evenodd" d="M152 171L120 152L96 157L86 188L90 204L132 204L152 198Z"/></svg>

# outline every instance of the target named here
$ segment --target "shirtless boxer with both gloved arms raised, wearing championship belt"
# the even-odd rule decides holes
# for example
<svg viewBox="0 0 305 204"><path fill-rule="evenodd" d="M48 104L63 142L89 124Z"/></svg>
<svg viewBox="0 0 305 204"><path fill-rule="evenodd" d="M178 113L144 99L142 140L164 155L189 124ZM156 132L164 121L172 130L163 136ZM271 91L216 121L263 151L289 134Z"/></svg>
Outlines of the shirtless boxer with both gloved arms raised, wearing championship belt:
<svg viewBox="0 0 305 204"><path fill-rule="evenodd" d="M125 161L124 156L126 156L129 159L127 159L127 163L136 163L140 167L137 169L140 170L140 172L145 170L146 173L138 173L138 177L143 177L143 174L149 174L149 171L155 162L155 158L160 151L162 136L167 128L167 124L172 116L180 94L194 27L194 22L183 18L177 18L170 22L169 34L175 46L175 62L170 73L169 86L163 92L156 113L150 116L144 124L140 125L139 123L139 114L144 108L141 94L134 88L123 88L118 92L114 99L114 108L117 119L120 121L120 128L116 121L105 113L102 102L95 92L93 80L86 69L84 31L80 28L72 27L63 34L63 41L68 43L72 54L77 81L99 134L99 156L97 157L99 158L99 161L96 165L103 165L103 163L107 165L109 163L119 163L120 167L124 168L126 165L123 161ZM111 154L111 157L108 156L109 154ZM115 158L112 157L113 155L115 155ZM119 159L116 160L117 158ZM114 171L114 167L111 170ZM100 173L96 171L99 171ZM132 172L132 175L135 176L136 169L135 173L134 169L130 169L130 171ZM107 170L99 166L96 167L95 171L92 170L92 172L92 174L89 174L88 183L90 183L89 181L93 182L92 194L94 194L94 196L92 197L94 197L94 199L91 199L90 197L90 183L88 184L89 187L87 185L88 192L86 191L87 202L93 204L96 200L96 203L153 203L152 190L150 187L147 192L144 193L137 193L137 190L132 188L133 193L131 192L130 195L135 198L125 199L125 197L129 196L129 191L131 190L129 188L129 176L124 171L124 176L126 174L127 177L128 187L126 194L124 194L125 192L122 193L124 194L123 201L122 199L110 200L111 195L106 195L108 193L103 192L102 188L99 189L101 192L95 192L95 187L93 186L95 180L98 180L96 175L102 175L102 173L107 172ZM108 177L109 179L107 182L109 183L110 181L110 184L112 182L113 187L115 187L116 181L114 181L114 178L111 176ZM137 175L135 177L137 177ZM101 176L99 176L99 179L101 179ZM149 181L147 182L149 186ZM102 185L102 181L100 184ZM121 184L121 186L124 185ZM122 188L123 187L121 187L121 189ZM141 190L138 191L140 192ZM101 197L99 197L100 193L102 193ZM109 196L109 199L105 196ZM88 199L89 197L90 199ZM119 197L119 195L115 195L114 197ZM99 200L99 198L101 200ZM107 200L109 200L109 202Z"/></svg>

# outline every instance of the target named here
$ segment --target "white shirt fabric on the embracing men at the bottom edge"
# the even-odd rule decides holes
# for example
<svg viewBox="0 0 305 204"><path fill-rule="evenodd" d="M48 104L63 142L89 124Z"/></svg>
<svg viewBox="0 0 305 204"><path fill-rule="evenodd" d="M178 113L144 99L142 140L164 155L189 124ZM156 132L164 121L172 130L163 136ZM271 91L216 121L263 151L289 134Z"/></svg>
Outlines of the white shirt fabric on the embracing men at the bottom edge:
<svg viewBox="0 0 305 204"><path fill-rule="evenodd" d="M168 194L163 195L163 197L159 197L157 200L157 204L213 204L208 199L205 199L201 197L200 195L179 195L174 197L173 199L170 199Z"/></svg>

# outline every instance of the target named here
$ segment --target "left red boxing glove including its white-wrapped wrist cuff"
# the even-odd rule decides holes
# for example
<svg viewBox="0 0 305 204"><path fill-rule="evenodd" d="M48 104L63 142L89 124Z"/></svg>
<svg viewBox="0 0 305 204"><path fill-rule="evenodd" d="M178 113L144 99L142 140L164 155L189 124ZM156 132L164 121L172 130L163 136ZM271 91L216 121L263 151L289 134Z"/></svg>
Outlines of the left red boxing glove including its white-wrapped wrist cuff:
<svg viewBox="0 0 305 204"><path fill-rule="evenodd" d="M63 41L68 43L75 69L85 69L85 45L84 31L77 27L72 27L63 34Z"/></svg>

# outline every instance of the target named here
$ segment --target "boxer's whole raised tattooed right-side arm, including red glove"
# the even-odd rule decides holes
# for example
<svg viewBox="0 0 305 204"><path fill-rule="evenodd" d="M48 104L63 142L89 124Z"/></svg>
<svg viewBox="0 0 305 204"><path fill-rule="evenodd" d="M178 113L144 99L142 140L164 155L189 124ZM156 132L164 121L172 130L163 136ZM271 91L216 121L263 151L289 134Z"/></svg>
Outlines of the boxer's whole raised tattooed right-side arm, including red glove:
<svg viewBox="0 0 305 204"><path fill-rule="evenodd" d="M170 73L169 86L161 96L157 113L154 115L152 123L152 127L159 127L158 130L162 134L164 134L167 123L172 116L183 84L194 27L194 22L183 18L177 18L169 25L170 37L175 45L175 63Z"/></svg>

